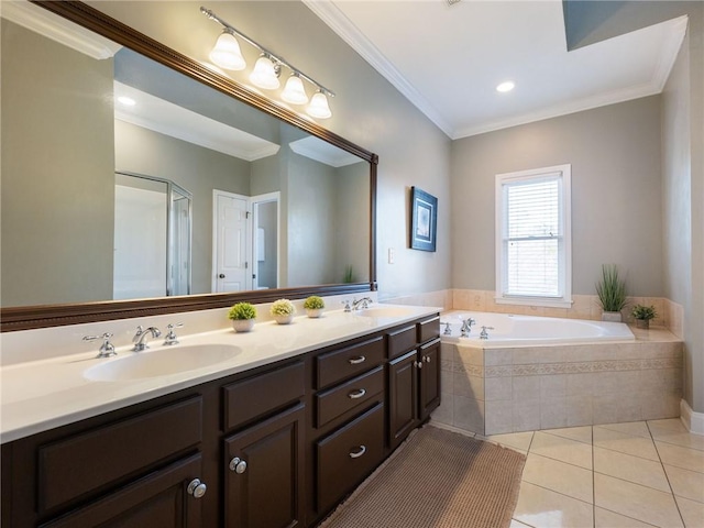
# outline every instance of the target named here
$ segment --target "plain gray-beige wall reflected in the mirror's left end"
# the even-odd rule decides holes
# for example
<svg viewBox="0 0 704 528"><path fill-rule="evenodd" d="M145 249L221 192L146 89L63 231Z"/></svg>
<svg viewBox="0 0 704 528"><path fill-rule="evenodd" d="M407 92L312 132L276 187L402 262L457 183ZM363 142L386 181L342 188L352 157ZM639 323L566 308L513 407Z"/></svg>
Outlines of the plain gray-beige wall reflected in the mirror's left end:
<svg viewBox="0 0 704 528"><path fill-rule="evenodd" d="M109 299L112 105L86 96L112 92L112 59L4 19L1 51L2 305Z"/></svg>

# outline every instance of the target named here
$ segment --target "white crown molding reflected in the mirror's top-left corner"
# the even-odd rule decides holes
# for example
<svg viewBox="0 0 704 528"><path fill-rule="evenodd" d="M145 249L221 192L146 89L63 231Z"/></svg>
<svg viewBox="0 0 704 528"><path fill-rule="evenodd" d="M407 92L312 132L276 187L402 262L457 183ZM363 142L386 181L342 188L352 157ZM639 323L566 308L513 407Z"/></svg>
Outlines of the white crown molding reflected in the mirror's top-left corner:
<svg viewBox="0 0 704 528"><path fill-rule="evenodd" d="M0 1L0 15L99 61L114 56L122 47L28 1Z"/></svg>

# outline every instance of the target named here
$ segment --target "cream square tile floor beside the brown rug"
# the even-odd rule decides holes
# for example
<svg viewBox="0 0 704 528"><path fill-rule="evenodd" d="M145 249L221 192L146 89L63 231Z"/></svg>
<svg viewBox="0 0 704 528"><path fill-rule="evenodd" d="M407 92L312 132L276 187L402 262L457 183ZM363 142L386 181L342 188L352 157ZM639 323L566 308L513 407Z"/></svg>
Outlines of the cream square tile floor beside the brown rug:
<svg viewBox="0 0 704 528"><path fill-rule="evenodd" d="M510 528L704 528L704 436L679 419L486 440L527 457Z"/></svg>

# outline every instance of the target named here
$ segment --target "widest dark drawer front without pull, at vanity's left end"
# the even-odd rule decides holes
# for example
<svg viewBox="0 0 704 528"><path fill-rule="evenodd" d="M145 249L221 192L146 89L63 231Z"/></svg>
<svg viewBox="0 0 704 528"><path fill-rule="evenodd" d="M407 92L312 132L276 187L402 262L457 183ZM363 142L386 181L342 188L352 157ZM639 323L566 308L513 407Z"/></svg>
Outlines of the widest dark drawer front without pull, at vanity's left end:
<svg viewBox="0 0 704 528"><path fill-rule="evenodd" d="M193 397L38 448L40 510L103 491L201 440L202 398ZM101 490L102 488L102 490Z"/></svg>

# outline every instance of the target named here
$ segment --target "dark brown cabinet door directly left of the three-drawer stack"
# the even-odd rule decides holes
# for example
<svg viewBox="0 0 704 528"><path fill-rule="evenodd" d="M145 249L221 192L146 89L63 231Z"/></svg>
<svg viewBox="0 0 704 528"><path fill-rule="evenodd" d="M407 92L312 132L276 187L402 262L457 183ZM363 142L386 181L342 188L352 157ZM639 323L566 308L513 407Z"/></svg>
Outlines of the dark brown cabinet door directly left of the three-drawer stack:
<svg viewBox="0 0 704 528"><path fill-rule="evenodd" d="M226 526L302 526L304 405L226 439Z"/></svg>

